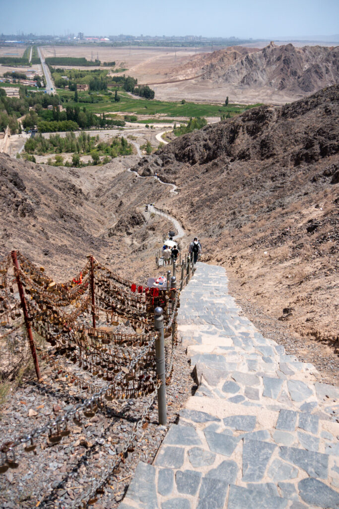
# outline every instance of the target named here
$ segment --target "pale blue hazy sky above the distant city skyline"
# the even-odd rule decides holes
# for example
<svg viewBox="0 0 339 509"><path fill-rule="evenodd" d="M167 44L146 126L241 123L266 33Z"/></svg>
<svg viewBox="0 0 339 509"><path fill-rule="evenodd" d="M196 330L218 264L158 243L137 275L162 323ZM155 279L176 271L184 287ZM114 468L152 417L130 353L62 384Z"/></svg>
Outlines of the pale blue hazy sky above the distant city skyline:
<svg viewBox="0 0 339 509"><path fill-rule="evenodd" d="M0 0L0 33L274 39L339 33L338 0Z"/></svg>

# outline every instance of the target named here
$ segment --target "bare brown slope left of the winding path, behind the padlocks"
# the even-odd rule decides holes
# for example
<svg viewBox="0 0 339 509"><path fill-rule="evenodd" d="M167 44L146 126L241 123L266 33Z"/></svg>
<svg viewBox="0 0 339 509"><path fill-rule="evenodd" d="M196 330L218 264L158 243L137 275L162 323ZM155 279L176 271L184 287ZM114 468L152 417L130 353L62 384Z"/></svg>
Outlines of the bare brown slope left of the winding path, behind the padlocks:
<svg viewBox="0 0 339 509"><path fill-rule="evenodd" d="M0 154L0 259L19 249L65 279L93 253L126 277L146 277L140 267L147 270L150 257L153 268L154 243L158 248L167 221L146 223L139 212L140 201L155 201L161 184L125 171L137 159L127 156L81 169ZM126 256L131 261L127 266Z"/></svg>

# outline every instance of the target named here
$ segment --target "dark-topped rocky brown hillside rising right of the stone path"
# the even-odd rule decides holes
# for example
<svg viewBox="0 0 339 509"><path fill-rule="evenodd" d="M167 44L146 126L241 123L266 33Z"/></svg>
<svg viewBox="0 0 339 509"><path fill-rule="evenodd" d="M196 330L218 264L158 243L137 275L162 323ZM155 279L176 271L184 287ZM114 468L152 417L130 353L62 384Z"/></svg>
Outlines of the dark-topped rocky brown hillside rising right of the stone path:
<svg viewBox="0 0 339 509"><path fill-rule="evenodd" d="M204 260L227 268L244 305L335 348L338 99L334 86L255 108L158 153L158 174L180 188L158 203L201 237Z"/></svg>

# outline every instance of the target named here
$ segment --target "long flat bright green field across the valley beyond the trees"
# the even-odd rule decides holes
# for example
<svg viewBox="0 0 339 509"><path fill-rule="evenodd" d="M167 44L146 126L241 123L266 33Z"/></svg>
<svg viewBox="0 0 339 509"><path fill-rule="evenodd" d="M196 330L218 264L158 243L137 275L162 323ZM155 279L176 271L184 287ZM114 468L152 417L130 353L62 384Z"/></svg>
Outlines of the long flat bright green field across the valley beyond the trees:
<svg viewBox="0 0 339 509"><path fill-rule="evenodd" d="M152 116L156 114L166 114L168 117L220 117L222 114L230 114L230 116L238 115L246 109L259 106L259 104L251 104L244 106L243 104L228 104L223 106L222 104L199 104L194 102L186 102L181 104L181 101L158 101L156 99L137 99L131 97L126 92L118 91L120 96L119 102L114 102L114 94L104 95L97 94L98 97L102 98L97 103L75 103L74 92L65 91L63 89L57 90L61 100L64 99L64 107L70 105L74 107L78 104L81 107L85 106L86 111L90 111L97 114L107 113L109 111L123 111L126 113L133 113L135 115L147 115ZM92 94L95 96L95 94ZM81 97L88 97L88 92L79 92L79 99Z"/></svg>

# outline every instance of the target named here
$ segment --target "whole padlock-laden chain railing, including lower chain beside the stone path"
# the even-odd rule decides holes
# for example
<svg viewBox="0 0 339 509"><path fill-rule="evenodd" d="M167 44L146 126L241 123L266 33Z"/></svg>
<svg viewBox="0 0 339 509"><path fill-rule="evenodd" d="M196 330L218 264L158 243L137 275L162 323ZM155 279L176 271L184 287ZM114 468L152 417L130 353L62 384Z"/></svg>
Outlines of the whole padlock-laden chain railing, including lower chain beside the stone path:
<svg viewBox="0 0 339 509"><path fill-rule="evenodd" d="M38 268L21 253L18 253L16 264L13 253L12 258L21 303L13 299L16 294L13 287L15 279L9 276L11 257L8 256L0 262L0 319L5 316L8 321L11 319L8 314L11 313L13 319L14 315L18 319L23 310L24 321L21 320L9 333L23 324L27 332L31 331L33 346L30 346L38 380L40 371L32 329L55 348L44 349L41 358L53 367L55 373L63 374L68 384L89 395L42 426L0 445L0 473L17 463L20 446L25 452L34 451L39 438L46 435L52 443L58 443L69 434L72 420L80 422L83 418L93 416L103 407L104 400L126 402L150 394L125 445L119 447L120 452L112 463L70 506L74 509L83 507L105 485L124 455L131 450L156 394L159 423L166 423L166 383L171 379L177 344L176 317L180 289L194 273L194 264L190 257L184 257L179 265L178 288L174 264L170 285L163 290L137 287L100 265L93 257L88 257L82 271L65 283L54 282L45 275L43 267ZM88 314L90 309L94 318L93 327L86 328L79 318L82 317L83 322L83 314ZM118 325L121 318L128 320L136 332L115 333L97 328L95 318L99 318L99 313L106 315L107 323L114 325ZM171 336L170 347L166 347L166 358L164 334L166 338ZM66 359L69 361L68 367L65 366ZM84 374L73 372L74 363L84 370Z"/></svg>

